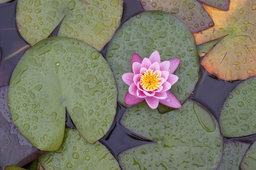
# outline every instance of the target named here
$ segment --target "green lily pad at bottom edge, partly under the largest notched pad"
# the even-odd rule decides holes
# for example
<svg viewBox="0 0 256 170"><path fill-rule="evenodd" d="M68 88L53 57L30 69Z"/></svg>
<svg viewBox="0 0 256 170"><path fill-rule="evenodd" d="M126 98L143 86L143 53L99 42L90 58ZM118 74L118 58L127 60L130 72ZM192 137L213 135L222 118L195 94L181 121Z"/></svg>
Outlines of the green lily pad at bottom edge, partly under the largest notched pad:
<svg viewBox="0 0 256 170"><path fill-rule="evenodd" d="M120 170L114 156L99 142L86 142L77 130L67 128L58 151L39 157L45 170Z"/></svg>

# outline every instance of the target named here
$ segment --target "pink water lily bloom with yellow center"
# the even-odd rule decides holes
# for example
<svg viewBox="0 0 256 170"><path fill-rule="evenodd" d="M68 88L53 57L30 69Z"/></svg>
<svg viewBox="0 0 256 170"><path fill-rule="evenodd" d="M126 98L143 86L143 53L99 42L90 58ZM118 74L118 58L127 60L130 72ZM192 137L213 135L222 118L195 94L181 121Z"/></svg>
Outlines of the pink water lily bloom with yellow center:
<svg viewBox="0 0 256 170"><path fill-rule="evenodd" d="M133 72L122 75L123 81L129 85L124 97L125 104L135 105L146 100L152 109L156 109L159 102L169 107L180 108L181 104L177 97L169 91L178 80L178 76L173 73L179 62L179 58L161 62L158 51L143 60L134 53L131 59Z"/></svg>

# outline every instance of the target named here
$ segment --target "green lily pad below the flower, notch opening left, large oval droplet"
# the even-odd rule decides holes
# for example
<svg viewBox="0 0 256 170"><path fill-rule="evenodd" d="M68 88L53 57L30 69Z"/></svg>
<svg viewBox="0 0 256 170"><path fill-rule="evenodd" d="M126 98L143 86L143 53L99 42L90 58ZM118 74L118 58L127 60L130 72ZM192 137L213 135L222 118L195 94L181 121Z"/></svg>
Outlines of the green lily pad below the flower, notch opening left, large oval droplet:
<svg viewBox="0 0 256 170"><path fill-rule="evenodd" d="M222 155L216 121L192 101L166 114L140 103L127 109L121 124L157 142L121 153L124 170L213 170Z"/></svg>

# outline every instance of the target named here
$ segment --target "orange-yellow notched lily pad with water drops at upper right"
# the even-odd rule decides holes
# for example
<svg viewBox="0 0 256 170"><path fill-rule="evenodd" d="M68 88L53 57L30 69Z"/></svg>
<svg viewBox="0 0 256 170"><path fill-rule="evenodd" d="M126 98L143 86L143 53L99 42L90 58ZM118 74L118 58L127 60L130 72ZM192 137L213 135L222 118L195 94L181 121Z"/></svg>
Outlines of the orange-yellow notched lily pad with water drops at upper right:
<svg viewBox="0 0 256 170"><path fill-rule="evenodd" d="M256 75L256 2L232 0L229 11L204 6L215 26L195 34L197 44L225 36L202 60L219 79L245 80Z"/></svg>

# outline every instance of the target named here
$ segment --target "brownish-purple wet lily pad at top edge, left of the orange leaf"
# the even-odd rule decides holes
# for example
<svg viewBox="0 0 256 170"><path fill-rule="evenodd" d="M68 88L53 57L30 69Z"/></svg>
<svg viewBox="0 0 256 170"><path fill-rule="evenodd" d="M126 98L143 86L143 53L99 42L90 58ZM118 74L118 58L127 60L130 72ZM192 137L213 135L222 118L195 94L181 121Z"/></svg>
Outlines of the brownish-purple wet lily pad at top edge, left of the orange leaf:
<svg viewBox="0 0 256 170"><path fill-rule="evenodd" d="M165 11L178 17L192 33L214 26L214 22L197 0L140 0L146 11Z"/></svg>

